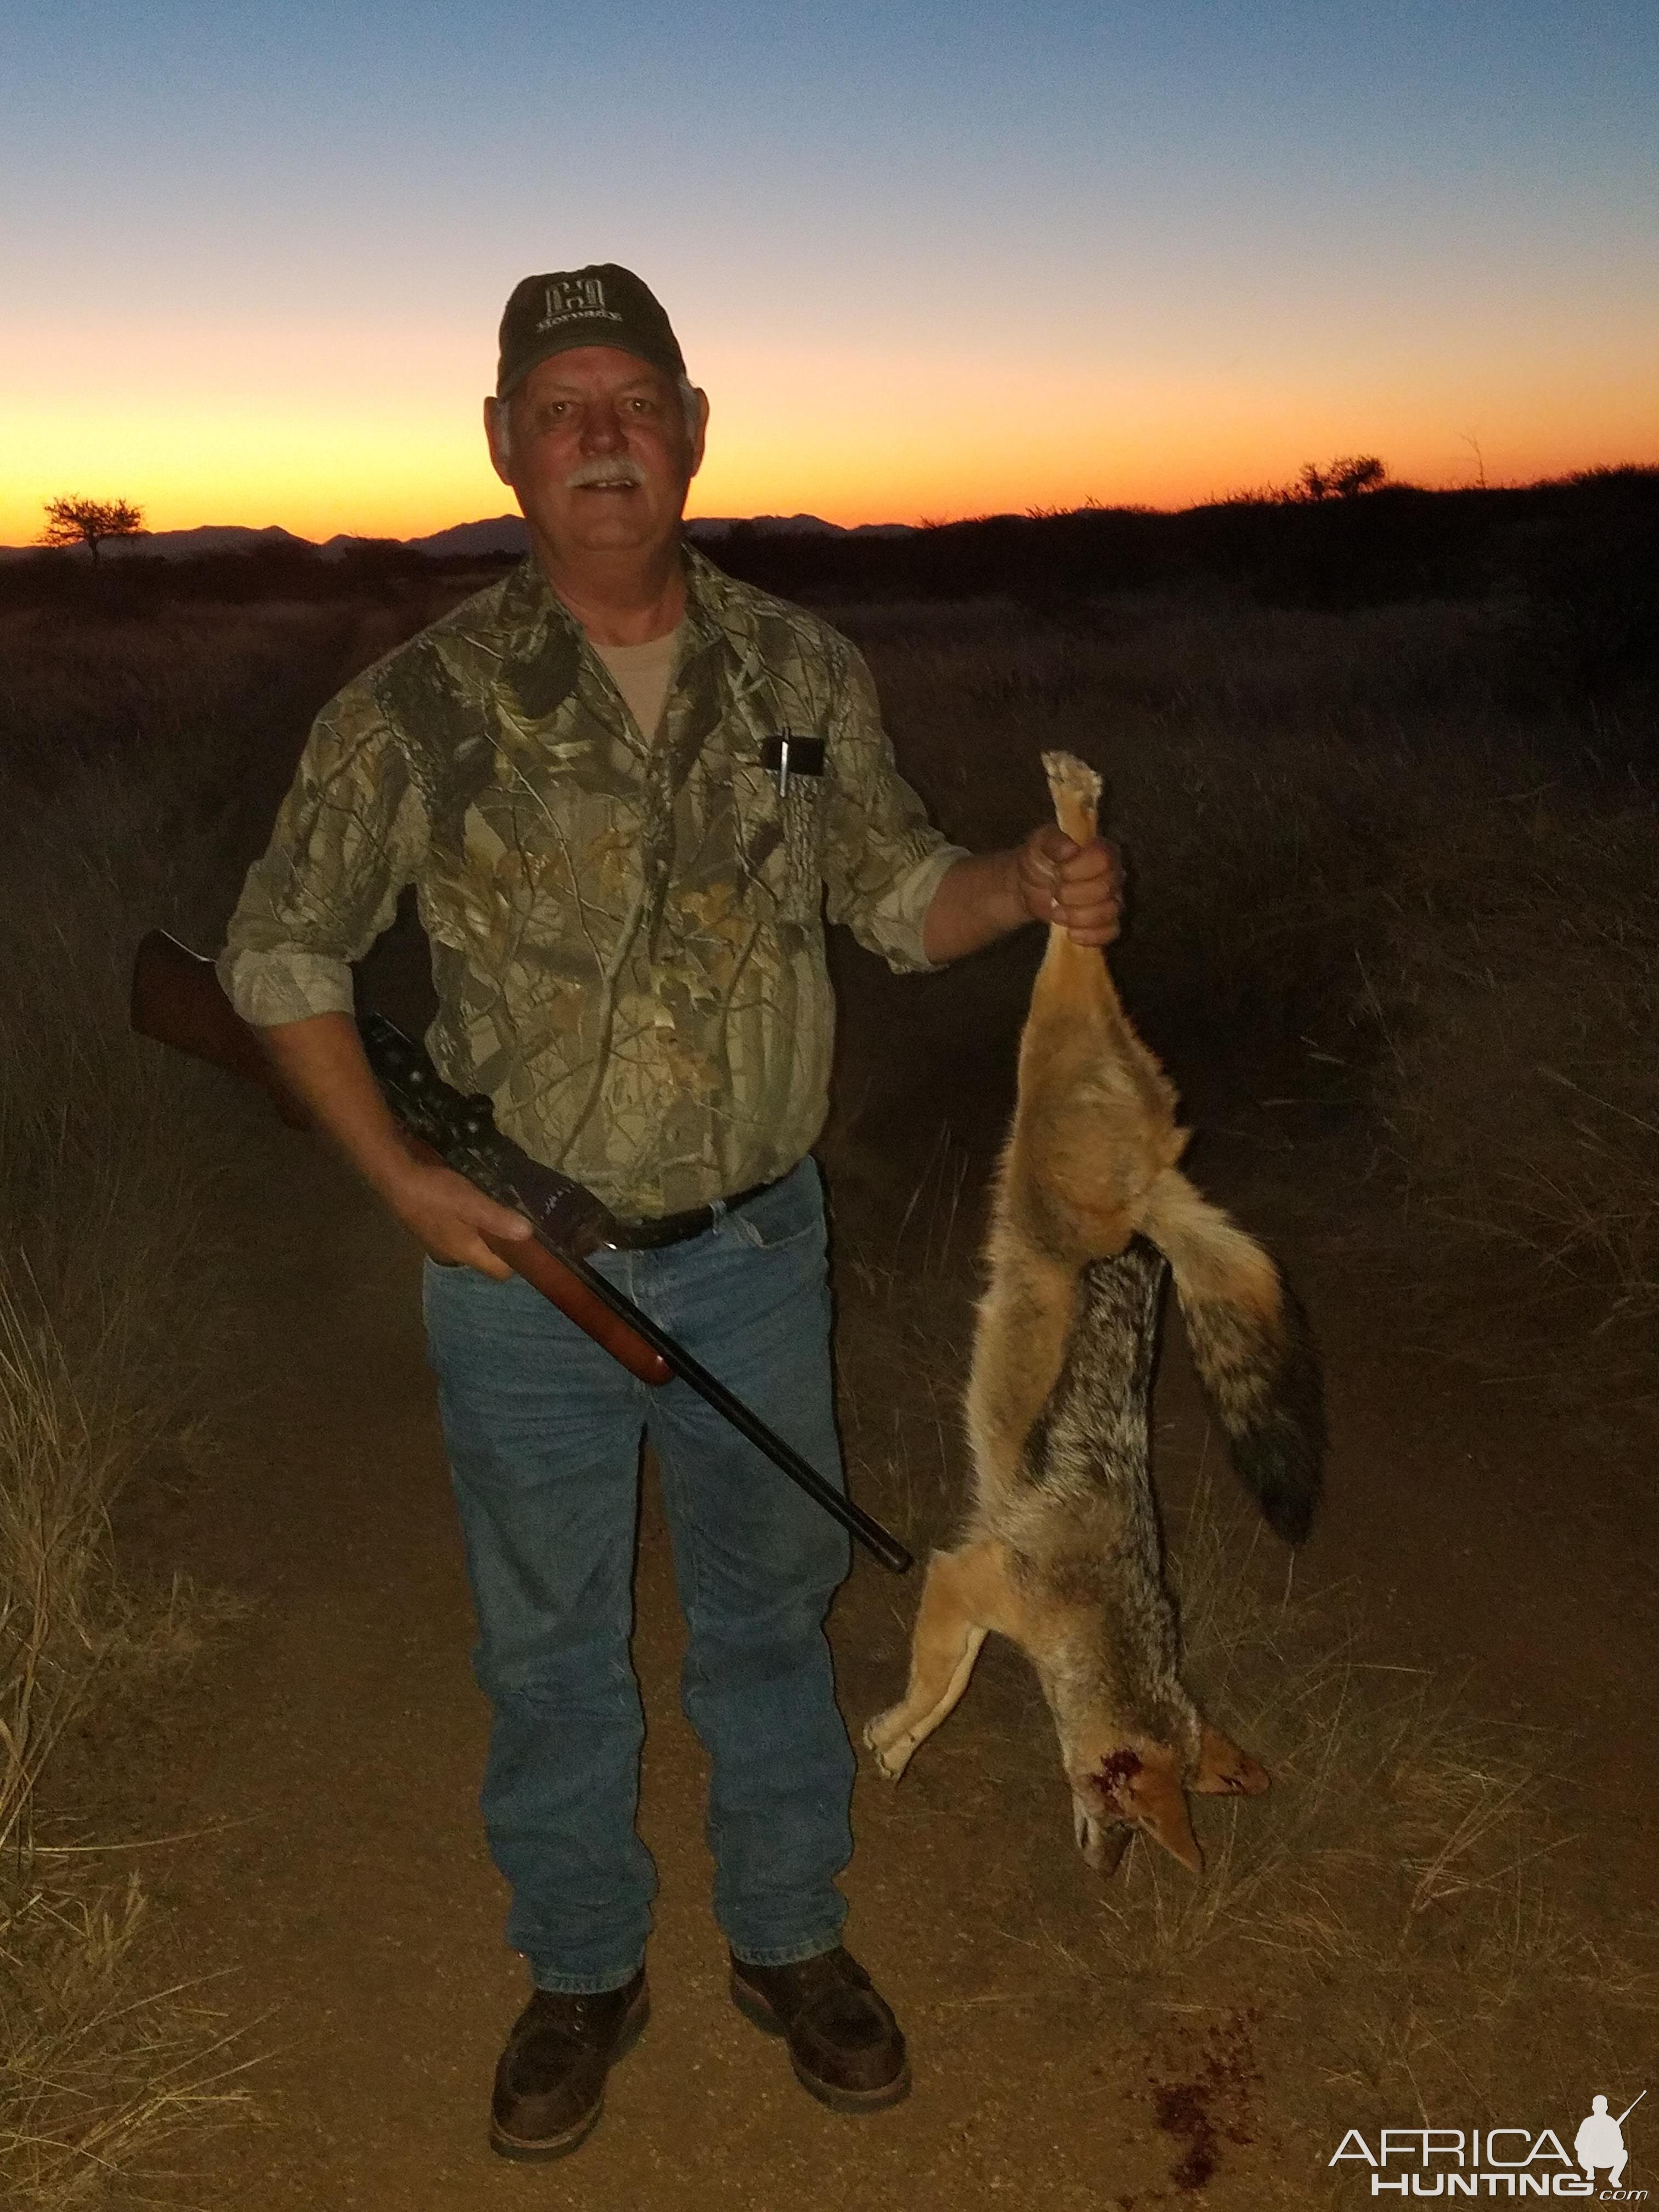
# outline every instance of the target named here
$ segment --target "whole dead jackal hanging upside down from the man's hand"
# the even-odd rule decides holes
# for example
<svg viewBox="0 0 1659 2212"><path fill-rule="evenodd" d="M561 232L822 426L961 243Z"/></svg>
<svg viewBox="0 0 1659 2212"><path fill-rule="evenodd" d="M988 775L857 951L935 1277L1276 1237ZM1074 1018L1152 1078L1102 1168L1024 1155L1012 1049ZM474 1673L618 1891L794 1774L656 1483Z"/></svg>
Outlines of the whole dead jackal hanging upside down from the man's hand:
<svg viewBox="0 0 1659 2212"><path fill-rule="evenodd" d="M1044 754L1060 827L1095 834L1099 776ZM1267 1787L1179 1677L1148 1467L1164 1263L1234 1467L1290 1544L1318 1500L1323 1411L1301 1310L1254 1239L1177 1170L1175 1091L1099 951L1048 931L1020 1040L967 1427L973 1504L933 1553L902 1703L865 1743L891 1781L967 1688L989 1630L1031 1659L1077 1843L1108 1871L1146 1829L1199 1871L1186 1790Z"/></svg>

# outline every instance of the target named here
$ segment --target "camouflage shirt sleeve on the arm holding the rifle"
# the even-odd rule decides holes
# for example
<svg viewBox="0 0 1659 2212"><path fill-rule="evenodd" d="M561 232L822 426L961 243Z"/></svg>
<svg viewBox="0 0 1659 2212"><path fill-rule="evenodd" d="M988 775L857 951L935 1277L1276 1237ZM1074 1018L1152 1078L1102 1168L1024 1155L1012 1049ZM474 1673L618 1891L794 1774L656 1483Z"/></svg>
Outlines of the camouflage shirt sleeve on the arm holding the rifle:
<svg viewBox="0 0 1659 2212"><path fill-rule="evenodd" d="M405 752L374 690L354 684L312 726L230 916L219 980L243 1022L349 1013L352 960L389 925L425 843Z"/></svg>

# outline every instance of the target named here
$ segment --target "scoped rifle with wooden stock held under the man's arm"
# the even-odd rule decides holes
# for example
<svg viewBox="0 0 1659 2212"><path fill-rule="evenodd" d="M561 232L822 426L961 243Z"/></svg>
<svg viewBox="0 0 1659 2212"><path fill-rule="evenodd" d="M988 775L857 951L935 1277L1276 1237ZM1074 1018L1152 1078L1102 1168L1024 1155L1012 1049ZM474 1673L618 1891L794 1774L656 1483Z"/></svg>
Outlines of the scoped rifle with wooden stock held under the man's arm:
<svg viewBox="0 0 1659 2212"><path fill-rule="evenodd" d="M622 1360L628 1374L641 1383L668 1383L677 1376L690 1385L894 1575L914 1566L911 1553L889 1528L843 1498L701 1360L588 1265L588 1254L608 1250L617 1230L615 1214L591 1190L544 1168L511 1137L502 1137L489 1099L453 1091L425 1046L405 1037L385 1015L361 1015L356 1026L374 1079L416 1157L453 1168L484 1197L511 1206L531 1223L531 1237L520 1243L484 1237L491 1252ZM316 1128L265 1055L259 1031L226 998L212 960L192 953L166 929L150 929L139 942L133 962L133 1029L157 1044L250 1077L272 1095L290 1128Z"/></svg>

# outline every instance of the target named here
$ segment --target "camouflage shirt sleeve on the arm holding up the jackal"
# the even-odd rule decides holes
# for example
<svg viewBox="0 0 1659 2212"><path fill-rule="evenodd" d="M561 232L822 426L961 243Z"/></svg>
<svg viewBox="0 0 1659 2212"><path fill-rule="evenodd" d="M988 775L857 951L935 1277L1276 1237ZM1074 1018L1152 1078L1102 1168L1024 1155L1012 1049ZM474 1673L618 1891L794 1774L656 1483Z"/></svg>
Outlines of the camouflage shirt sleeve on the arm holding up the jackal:
<svg viewBox="0 0 1659 2212"><path fill-rule="evenodd" d="M922 922L940 878L967 856L927 818L898 774L860 653L847 655L825 763L823 878L832 922L845 922L887 967L927 969Z"/></svg>

